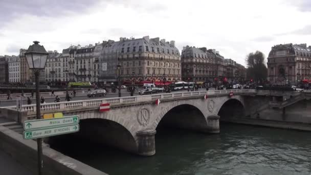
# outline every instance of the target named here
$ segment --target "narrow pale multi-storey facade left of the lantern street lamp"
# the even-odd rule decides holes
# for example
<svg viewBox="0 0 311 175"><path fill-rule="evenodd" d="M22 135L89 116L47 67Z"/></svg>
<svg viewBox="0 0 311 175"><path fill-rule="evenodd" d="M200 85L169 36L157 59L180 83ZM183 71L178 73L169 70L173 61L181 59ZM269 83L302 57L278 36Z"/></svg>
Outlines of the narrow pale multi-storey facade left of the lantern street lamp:
<svg viewBox="0 0 311 175"><path fill-rule="evenodd" d="M8 57L8 66L9 66L9 82L12 83L20 82L19 56L12 55Z"/></svg>

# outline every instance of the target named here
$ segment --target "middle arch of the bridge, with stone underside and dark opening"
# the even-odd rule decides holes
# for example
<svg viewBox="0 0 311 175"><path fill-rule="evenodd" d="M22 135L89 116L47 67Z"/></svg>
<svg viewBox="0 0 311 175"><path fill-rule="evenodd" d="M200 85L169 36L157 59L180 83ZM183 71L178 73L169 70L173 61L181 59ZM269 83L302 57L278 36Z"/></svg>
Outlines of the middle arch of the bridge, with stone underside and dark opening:
<svg viewBox="0 0 311 175"><path fill-rule="evenodd" d="M192 100L172 102L162 108L161 114L154 120L151 128L156 130L161 122L161 124L165 123L177 128L204 130L207 127L207 121L202 108L202 105L198 105Z"/></svg>

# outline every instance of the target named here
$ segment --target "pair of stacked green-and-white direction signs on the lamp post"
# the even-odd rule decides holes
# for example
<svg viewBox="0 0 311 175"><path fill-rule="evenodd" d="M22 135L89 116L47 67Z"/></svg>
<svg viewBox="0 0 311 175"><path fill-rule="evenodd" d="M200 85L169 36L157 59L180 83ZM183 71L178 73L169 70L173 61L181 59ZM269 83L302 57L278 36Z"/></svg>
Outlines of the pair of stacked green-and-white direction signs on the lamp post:
<svg viewBox="0 0 311 175"><path fill-rule="evenodd" d="M37 139L75 133L80 130L79 122L78 116L25 121L23 137L24 139Z"/></svg>

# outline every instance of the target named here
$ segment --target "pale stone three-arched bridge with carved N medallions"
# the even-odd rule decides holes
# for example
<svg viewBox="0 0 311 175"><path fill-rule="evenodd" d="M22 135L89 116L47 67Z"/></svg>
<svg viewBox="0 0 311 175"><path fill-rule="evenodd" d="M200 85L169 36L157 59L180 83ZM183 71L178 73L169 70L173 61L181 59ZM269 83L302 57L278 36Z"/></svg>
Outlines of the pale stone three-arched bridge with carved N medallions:
<svg viewBox="0 0 311 175"><path fill-rule="evenodd" d="M161 101L159 105L157 99ZM269 100L256 96L256 90L177 92L41 104L41 115L56 112L78 115L81 119L78 137L151 156L156 152L154 135L160 125L219 133L219 118L251 115L260 106L269 104ZM99 112L102 103L109 103L110 110ZM23 116L15 119L21 123L35 119L36 115L34 104L24 105L21 110L3 108L3 114L4 110L12 116L14 112Z"/></svg>

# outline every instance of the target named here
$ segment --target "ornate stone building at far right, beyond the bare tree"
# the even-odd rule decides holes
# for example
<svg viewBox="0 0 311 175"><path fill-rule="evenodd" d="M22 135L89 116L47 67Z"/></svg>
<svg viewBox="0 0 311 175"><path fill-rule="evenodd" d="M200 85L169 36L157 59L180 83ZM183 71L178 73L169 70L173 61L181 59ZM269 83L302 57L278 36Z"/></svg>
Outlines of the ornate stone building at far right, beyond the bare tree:
<svg viewBox="0 0 311 175"><path fill-rule="evenodd" d="M268 57L268 78L271 83L284 84L286 80L295 84L310 79L311 47L307 45L276 45Z"/></svg>

